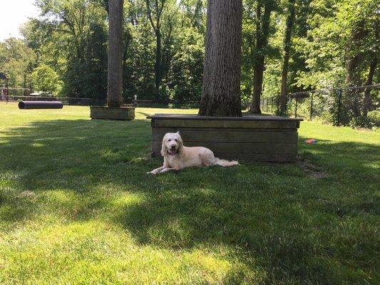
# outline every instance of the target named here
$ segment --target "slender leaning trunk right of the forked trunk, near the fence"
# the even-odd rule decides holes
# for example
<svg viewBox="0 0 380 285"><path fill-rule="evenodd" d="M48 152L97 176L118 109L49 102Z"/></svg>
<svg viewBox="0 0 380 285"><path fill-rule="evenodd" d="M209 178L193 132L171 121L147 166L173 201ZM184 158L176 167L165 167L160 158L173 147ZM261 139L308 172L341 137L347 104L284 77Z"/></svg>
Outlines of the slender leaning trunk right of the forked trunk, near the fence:
<svg viewBox="0 0 380 285"><path fill-rule="evenodd" d="M282 64L281 95L279 97L279 113L287 113L287 73L289 69L289 53L292 42L292 28L294 24L294 2L289 0L289 15L287 16L287 28L284 37L284 63Z"/></svg>

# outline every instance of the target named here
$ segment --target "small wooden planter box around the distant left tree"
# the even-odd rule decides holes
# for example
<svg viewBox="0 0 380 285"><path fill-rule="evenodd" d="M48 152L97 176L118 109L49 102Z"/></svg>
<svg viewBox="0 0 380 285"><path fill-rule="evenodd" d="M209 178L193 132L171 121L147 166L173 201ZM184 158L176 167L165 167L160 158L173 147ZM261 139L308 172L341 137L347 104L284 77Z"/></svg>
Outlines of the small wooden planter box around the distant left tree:
<svg viewBox="0 0 380 285"><path fill-rule="evenodd" d="M135 118L135 107L132 106L119 108L91 106L90 110L91 119L133 120Z"/></svg>

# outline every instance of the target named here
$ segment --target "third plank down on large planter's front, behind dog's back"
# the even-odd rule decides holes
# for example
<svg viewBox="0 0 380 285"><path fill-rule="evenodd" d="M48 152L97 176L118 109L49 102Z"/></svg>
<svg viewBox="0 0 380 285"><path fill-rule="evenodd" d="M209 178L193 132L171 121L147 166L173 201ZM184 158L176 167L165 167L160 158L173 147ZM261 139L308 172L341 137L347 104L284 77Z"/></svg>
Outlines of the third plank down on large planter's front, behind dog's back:
<svg viewBox="0 0 380 285"><path fill-rule="evenodd" d="M215 154L297 154L297 144L294 143L250 143L250 142L186 142L186 146L207 147ZM153 152L160 152L161 142L152 142Z"/></svg>

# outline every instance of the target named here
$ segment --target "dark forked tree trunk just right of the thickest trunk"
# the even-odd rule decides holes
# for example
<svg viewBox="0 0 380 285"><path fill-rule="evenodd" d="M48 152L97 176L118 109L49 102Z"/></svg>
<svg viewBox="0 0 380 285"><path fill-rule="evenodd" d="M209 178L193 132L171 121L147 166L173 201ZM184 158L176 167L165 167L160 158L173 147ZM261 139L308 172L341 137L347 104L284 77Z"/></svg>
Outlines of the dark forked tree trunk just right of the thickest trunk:
<svg viewBox="0 0 380 285"><path fill-rule="evenodd" d="M262 79L264 76L265 68L265 48L268 43L270 14L272 12L272 1L265 3L264 15L261 22L261 4L257 2L257 22L256 22L256 50L257 57L255 61L255 67L253 69L253 94L251 113L261 114L260 110L260 97L262 93Z"/></svg>

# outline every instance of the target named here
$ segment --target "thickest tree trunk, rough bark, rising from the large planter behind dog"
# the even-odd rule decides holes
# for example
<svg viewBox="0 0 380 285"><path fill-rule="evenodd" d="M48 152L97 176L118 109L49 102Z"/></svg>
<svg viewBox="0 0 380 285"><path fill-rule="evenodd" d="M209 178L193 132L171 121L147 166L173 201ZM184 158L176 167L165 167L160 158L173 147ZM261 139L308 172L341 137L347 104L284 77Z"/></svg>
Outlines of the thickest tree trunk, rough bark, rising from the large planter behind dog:
<svg viewBox="0 0 380 285"><path fill-rule="evenodd" d="M242 0L208 0L200 115L242 115Z"/></svg>

